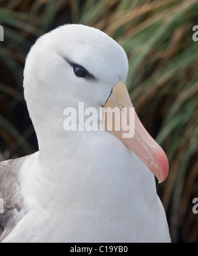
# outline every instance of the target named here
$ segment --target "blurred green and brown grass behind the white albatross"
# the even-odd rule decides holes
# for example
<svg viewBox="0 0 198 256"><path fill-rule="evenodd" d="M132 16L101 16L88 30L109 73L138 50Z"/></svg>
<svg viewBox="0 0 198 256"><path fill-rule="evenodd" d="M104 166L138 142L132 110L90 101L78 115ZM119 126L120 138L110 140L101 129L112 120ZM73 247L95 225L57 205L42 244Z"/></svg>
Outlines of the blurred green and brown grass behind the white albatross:
<svg viewBox="0 0 198 256"><path fill-rule="evenodd" d="M170 161L170 174L157 188L172 241L197 242L197 0L0 0L0 159L37 150L23 98L24 62L38 36L65 23L96 27L127 52L131 99Z"/></svg>

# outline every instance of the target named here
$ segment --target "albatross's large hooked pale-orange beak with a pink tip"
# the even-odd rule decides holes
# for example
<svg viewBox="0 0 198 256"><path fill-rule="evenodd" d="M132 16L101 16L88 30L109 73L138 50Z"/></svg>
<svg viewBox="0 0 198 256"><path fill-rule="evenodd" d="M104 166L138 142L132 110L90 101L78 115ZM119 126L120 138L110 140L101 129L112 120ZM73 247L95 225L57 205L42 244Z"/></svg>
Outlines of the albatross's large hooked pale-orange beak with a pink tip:
<svg viewBox="0 0 198 256"><path fill-rule="evenodd" d="M123 82L118 82L114 86L112 94L103 107L106 127L113 131L139 159L147 164L159 183L163 182L168 176L168 159L160 145L152 139L143 127ZM116 118L117 115L114 117L112 115L112 109L115 108L119 109L119 118Z"/></svg>

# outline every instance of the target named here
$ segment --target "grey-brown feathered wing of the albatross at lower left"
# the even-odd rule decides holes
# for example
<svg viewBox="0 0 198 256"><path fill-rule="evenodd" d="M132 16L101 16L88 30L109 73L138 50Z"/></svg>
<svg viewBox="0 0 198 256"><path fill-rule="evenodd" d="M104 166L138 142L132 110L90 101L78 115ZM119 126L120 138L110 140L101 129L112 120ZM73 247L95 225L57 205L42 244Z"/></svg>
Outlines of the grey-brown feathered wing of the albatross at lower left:
<svg viewBox="0 0 198 256"><path fill-rule="evenodd" d="M23 216L23 197L18 178L23 160L24 157L0 162L0 242Z"/></svg>

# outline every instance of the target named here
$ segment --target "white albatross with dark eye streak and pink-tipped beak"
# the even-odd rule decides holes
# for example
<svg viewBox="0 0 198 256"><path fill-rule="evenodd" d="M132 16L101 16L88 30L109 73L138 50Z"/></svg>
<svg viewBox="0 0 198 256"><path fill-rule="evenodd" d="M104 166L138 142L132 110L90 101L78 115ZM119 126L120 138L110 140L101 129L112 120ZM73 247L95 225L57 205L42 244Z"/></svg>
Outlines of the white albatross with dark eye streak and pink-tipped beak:
<svg viewBox="0 0 198 256"><path fill-rule="evenodd" d="M133 107L128 68L114 39L84 25L58 27L32 46L24 97L39 151L0 163L1 242L170 242L154 179L166 179L168 159L137 114L134 126L126 114L129 138L122 129L63 125L64 109L79 102L98 111ZM102 121L109 125L107 115Z"/></svg>

